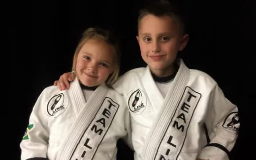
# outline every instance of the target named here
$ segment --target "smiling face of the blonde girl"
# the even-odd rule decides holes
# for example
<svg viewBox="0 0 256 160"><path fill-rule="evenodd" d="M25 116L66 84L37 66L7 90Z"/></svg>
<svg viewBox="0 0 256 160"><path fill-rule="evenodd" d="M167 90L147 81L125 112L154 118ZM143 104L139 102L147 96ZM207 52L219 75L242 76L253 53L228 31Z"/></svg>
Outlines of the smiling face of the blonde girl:
<svg viewBox="0 0 256 160"><path fill-rule="evenodd" d="M102 39L91 38L77 55L76 76L86 86L105 82L114 69L114 47Z"/></svg>

